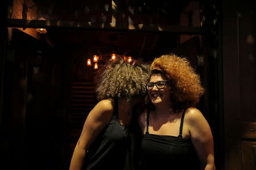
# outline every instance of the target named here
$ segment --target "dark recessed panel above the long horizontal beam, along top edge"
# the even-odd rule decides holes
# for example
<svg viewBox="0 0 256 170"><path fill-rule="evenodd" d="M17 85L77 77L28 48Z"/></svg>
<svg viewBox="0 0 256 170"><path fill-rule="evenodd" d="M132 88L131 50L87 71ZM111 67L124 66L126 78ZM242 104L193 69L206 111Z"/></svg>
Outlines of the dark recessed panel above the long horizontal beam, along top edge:
<svg viewBox="0 0 256 170"><path fill-rule="evenodd" d="M105 15L109 22L112 14L129 16L160 16L157 22L168 20L168 24L177 24L179 16L191 0L153 1L153 0L73 0L51 1L33 0L46 19L76 20L89 22L90 16ZM115 9L112 6L115 4ZM85 15L86 14L86 15ZM88 17L89 16L89 17ZM163 22L163 20L161 22Z"/></svg>

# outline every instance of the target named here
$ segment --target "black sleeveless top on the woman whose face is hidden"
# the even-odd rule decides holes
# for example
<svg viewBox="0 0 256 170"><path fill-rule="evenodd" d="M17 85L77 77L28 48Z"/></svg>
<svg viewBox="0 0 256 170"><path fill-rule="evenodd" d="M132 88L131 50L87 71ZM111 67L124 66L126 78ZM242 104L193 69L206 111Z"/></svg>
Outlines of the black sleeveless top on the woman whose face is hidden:
<svg viewBox="0 0 256 170"><path fill-rule="evenodd" d="M110 100L111 101L111 100ZM118 119L115 99L112 118L86 152L83 169L134 169L134 135Z"/></svg>

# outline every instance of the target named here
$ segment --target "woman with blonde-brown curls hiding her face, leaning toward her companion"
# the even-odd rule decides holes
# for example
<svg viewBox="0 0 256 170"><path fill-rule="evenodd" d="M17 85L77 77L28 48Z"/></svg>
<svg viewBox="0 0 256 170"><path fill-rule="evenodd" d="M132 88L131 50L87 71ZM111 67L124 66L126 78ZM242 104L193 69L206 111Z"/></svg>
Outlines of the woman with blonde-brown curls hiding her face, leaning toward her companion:
<svg viewBox="0 0 256 170"><path fill-rule="evenodd" d="M135 168L133 108L146 96L149 74L150 65L138 61L106 63L96 76L99 102L86 118L69 169Z"/></svg>

